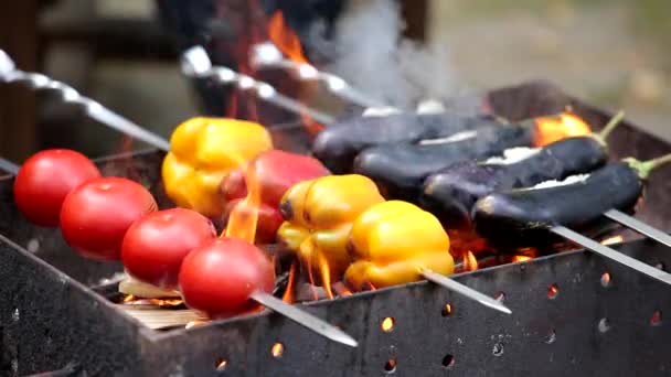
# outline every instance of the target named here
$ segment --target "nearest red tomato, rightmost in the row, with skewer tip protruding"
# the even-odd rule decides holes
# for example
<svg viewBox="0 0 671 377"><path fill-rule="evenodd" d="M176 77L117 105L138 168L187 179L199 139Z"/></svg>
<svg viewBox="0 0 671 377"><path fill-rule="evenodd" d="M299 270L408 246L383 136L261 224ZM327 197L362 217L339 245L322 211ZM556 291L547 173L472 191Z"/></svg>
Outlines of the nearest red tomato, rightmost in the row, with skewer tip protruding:
<svg viewBox="0 0 671 377"><path fill-rule="evenodd" d="M271 292L273 265L256 246L239 238L219 238L192 250L180 270L180 289L187 305L225 317L254 309L249 295Z"/></svg>

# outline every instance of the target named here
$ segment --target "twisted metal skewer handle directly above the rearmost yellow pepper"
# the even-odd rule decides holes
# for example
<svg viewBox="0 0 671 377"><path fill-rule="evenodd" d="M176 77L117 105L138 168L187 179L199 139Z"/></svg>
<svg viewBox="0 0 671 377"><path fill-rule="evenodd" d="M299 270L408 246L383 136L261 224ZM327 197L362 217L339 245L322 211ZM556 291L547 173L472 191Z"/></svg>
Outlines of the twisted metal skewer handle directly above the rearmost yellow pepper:
<svg viewBox="0 0 671 377"><path fill-rule="evenodd" d="M296 114L307 115L320 123L333 122L328 114L315 110L290 97L279 94L275 88L231 68L213 66L207 52L202 46L193 46L182 54L182 73L190 77L210 78L221 84L234 84L241 89L253 90L258 98Z"/></svg>

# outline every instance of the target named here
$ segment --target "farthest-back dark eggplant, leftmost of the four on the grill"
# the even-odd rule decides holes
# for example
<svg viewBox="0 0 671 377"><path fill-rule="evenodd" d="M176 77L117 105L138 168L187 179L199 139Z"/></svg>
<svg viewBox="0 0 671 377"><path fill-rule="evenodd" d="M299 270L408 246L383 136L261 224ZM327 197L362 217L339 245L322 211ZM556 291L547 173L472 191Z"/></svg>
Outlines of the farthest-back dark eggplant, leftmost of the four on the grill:
<svg viewBox="0 0 671 377"><path fill-rule="evenodd" d="M352 172L356 154L369 147L415 143L496 125L500 122L484 115L466 117L451 112L355 117L321 131L312 142L312 154L334 174L345 174Z"/></svg>

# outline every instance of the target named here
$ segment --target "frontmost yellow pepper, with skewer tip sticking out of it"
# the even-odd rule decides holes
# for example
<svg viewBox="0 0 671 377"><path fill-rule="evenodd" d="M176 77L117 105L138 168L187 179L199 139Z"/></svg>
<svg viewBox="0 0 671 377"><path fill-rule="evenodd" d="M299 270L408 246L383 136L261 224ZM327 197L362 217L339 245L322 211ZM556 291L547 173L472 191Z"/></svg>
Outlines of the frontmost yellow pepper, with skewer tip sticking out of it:
<svg viewBox="0 0 671 377"><path fill-rule="evenodd" d="M430 269L451 274L455 262L440 222L414 204L390 201L363 212L350 234L353 262L344 281L353 290L422 280Z"/></svg>

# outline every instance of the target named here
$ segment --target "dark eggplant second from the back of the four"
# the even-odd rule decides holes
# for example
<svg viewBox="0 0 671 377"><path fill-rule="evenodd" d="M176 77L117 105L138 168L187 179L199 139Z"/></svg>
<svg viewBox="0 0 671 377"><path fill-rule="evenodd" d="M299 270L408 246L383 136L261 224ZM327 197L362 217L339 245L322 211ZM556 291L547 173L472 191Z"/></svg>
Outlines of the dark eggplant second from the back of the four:
<svg viewBox="0 0 671 377"><path fill-rule="evenodd" d="M386 198L416 203L424 180L465 160L497 155L513 147L529 147L532 130L518 125L484 127L475 138L439 144L386 144L362 151L354 172L369 176Z"/></svg>

